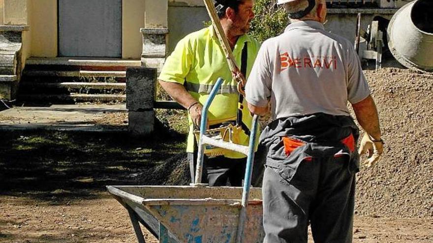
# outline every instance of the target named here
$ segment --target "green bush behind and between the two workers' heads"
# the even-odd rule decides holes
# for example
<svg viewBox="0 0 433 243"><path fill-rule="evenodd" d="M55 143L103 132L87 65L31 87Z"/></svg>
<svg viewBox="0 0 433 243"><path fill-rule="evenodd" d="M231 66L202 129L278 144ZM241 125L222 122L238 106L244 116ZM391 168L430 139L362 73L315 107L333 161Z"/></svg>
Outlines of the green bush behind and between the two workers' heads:
<svg viewBox="0 0 433 243"><path fill-rule="evenodd" d="M281 34L288 24L287 14L277 0L255 0L254 14L249 34L260 42Z"/></svg>

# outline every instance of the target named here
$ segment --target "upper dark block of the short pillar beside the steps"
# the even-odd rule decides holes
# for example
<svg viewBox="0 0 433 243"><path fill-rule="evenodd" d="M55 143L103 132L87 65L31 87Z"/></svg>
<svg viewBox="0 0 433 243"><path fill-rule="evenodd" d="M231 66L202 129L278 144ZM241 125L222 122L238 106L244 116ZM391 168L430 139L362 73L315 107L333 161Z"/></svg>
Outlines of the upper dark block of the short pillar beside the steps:
<svg viewBox="0 0 433 243"><path fill-rule="evenodd" d="M156 69L126 69L126 108L130 111L152 110L155 101Z"/></svg>

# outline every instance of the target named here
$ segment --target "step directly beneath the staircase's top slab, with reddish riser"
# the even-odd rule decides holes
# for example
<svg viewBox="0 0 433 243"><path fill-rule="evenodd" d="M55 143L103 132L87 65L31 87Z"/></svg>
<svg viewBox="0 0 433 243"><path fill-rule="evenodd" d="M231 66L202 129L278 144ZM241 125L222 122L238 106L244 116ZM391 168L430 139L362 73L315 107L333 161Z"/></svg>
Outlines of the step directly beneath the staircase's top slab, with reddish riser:
<svg viewBox="0 0 433 243"><path fill-rule="evenodd" d="M24 75L27 77L126 78L126 71L26 70Z"/></svg>

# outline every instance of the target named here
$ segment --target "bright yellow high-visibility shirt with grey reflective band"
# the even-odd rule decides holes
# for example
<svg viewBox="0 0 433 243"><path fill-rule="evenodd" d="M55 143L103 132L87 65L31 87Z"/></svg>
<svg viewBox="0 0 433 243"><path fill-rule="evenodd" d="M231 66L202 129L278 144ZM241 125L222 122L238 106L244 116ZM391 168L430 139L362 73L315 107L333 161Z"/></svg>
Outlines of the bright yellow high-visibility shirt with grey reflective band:
<svg viewBox="0 0 433 243"><path fill-rule="evenodd" d="M238 38L233 49L238 67L241 65L242 50L245 44L247 44L248 52L246 74L248 77L260 44L246 34ZM209 125L224 121L236 121L239 98L237 83L232 79L215 30L210 26L190 33L178 42L173 53L167 57L158 79L183 84L189 94L204 105L218 78L222 78L224 81L209 108ZM252 117L245 99L242 114L243 122L248 128L251 128ZM188 120L189 134L186 151L192 153L194 151L194 135L193 123L189 115ZM243 141L242 145L248 145L248 136L243 134L241 141ZM225 154L225 157L244 158L245 155L230 152Z"/></svg>

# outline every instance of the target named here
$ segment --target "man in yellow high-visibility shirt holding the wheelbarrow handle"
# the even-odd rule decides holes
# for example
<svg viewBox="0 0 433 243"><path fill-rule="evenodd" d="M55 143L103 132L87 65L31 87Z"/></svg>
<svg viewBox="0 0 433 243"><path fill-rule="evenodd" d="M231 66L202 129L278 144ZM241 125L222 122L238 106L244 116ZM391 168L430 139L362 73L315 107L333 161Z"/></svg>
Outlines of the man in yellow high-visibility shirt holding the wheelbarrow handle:
<svg viewBox="0 0 433 243"><path fill-rule="evenodd" d="M248 77L259 43L247 35L254 17L253 0L216 0L215 7L224 33L241 71ZM186 152L194 182L197 160L197 142L194 125L200 125L202 105L209 97L218 78L224 79L220 91L209 108L208 125L217 127L222 122L236 121L239 93L237 83L220 47L212 26L188 34L179 41L173 53L165 61L159 75L159 83L167 93L188 110L189 134ZM249 129L252 117L244 101L242 122ZM241 132L242 145L248 145L247 132ZM202 183L210 186L241 186L245 174L246 157L237 152L223 156L204 158ZM256 171L261 171L258 168Z"/></svg>

